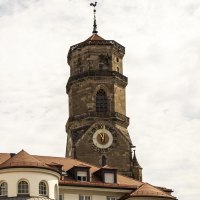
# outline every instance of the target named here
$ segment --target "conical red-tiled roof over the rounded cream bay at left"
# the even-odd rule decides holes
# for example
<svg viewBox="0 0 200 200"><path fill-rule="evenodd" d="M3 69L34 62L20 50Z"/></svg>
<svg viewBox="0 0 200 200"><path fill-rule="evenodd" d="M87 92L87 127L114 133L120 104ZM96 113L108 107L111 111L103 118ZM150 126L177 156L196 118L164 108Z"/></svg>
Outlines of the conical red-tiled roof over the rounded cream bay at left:
<svg viewBox="0 0 200 200"><path fill-rule="evenodd" d="M15 168L15 167L45 168L57 171L53 166L46 165L45 163L38 160L34 156L28 154L24 150L21 150L17 154L13 154L13 156L11 156L6 161L0 164L0 169Z"/></svg>

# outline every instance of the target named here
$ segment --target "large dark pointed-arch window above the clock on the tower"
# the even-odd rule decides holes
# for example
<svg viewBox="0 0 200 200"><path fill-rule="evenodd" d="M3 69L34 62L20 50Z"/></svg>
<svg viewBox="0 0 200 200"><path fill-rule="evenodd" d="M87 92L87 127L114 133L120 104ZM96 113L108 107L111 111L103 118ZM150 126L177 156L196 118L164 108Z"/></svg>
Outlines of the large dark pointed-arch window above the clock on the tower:
<svg viewBox="0 0 200 200"><path fill-rule="evenodd" d="M108 100L106 93L103 89L100 89L96 94L96 112L107 112Z"/></svg>

